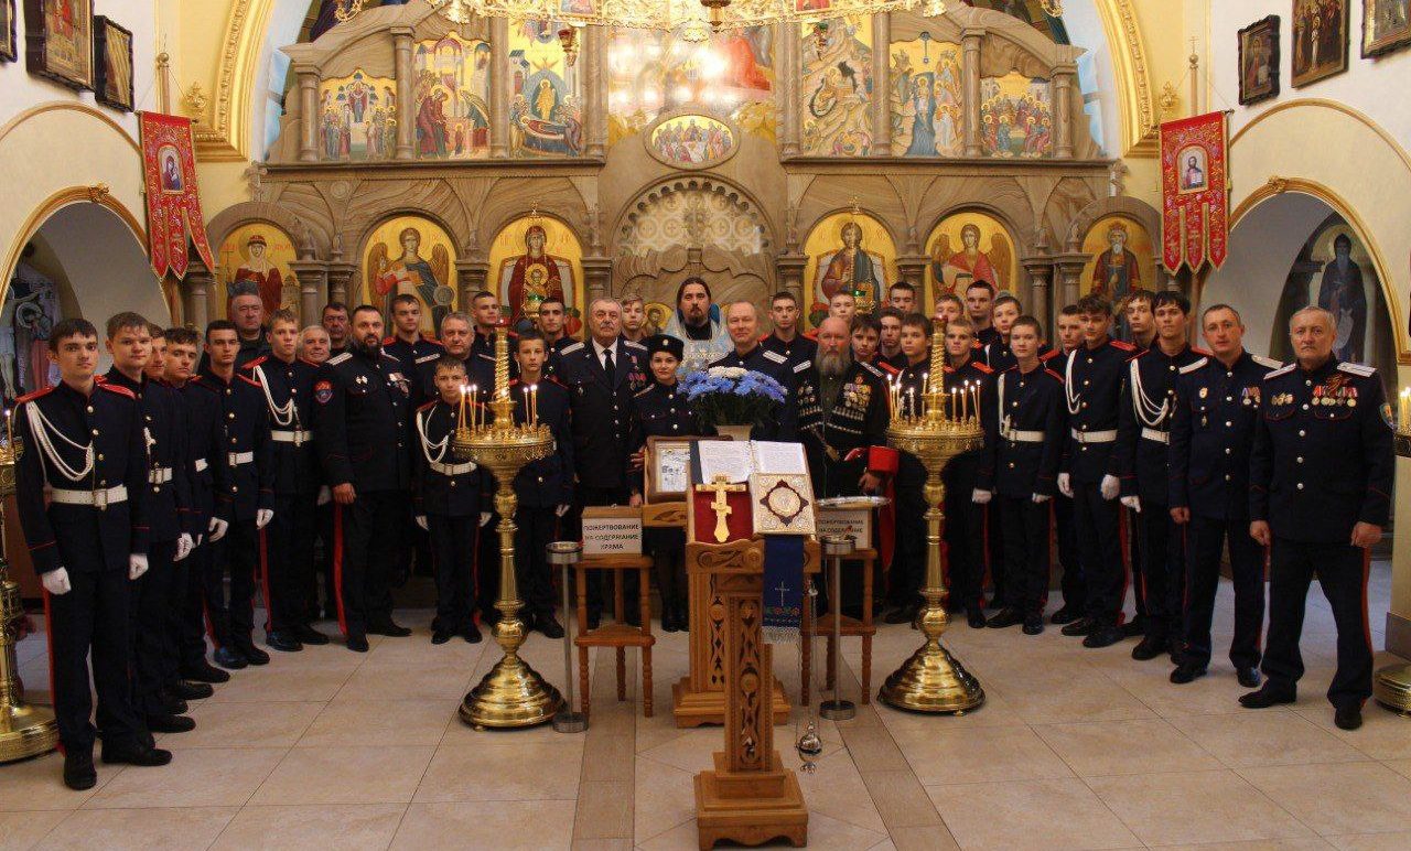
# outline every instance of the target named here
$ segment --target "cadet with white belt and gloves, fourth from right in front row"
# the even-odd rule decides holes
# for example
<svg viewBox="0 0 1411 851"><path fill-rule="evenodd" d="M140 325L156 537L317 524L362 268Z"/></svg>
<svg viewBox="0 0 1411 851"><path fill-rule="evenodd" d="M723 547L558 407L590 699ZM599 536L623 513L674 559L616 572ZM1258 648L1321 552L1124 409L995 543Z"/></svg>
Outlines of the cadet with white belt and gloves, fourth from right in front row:
<svg viewBox="0 0 1411 851"><path fill-rule="evenodd" d="M1122 565L1116 498L1118 408L1122 375L1132 346L1108 336L1112 305L1086 295L1078 302L1084 323L1084 346L1064 366L1068 408L1068 436L1064 440L1058 490L1074 500L1082 576L1086 583L1086 614L1062 628L1064 635L1084 635L1084 646L1105 648L1123 638L1122 603L1127 577Z"/></svg>

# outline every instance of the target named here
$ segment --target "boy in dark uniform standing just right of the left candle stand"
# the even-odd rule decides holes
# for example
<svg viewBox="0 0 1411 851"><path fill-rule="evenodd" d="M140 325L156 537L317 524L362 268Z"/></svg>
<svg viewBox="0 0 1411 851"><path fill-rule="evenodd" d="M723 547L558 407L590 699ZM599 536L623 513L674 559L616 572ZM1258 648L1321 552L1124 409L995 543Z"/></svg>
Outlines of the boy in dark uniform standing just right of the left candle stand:
<svg viewBox="0 0 1411 851"><path fill-rule="evenodd" d="M624 337L622 343L632 343ZM563 638L563 625L553 617L553 573L545 548L557 538L559 519L573 505L573 433L569 426L569 391L556 378L545 375L549 347L536 330L519 334L515 342L519 378L509 385L515 402L515 422L531 421L529 402L538 422L549 426L555 449L547 457L525 464L515 476L519 509L515 514L515 576L525 601L521 617L526 629L547 638ZM525 388L531 388L525 394ZM498 589L497 589L498 590ZM564 618L569 612L563 614Z"/></svg>

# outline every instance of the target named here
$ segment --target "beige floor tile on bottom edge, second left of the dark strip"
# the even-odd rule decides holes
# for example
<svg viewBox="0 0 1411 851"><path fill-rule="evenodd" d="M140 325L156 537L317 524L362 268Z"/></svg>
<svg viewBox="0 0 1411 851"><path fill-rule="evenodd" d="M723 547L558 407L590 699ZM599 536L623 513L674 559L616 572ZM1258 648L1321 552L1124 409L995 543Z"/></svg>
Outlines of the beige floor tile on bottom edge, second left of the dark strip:
<svg viewBox="0 0 1411 851"><path fill-rule="evenodd" d="M231 820L213 851L387 848L406 804L248 806Z"/></svg>

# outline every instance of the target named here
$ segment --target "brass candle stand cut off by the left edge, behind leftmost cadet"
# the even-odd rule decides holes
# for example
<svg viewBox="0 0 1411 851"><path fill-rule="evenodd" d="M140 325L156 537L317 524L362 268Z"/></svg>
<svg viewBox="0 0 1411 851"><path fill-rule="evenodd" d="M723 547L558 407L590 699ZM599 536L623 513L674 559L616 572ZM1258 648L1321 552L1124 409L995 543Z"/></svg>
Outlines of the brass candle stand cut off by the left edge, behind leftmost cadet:
<svg viewBox="0 0 1411 851"><path fill-rule="evenodd" d="M14 494L14 471L21 452L24 447L14 439L0 446L0 500ZM0 762L14 762L56 748L59 727L52 710L24 703L14 652L24 605L20 603L20 584L10 580L10 563L4 553L4 508L0 505Z"/></svg>

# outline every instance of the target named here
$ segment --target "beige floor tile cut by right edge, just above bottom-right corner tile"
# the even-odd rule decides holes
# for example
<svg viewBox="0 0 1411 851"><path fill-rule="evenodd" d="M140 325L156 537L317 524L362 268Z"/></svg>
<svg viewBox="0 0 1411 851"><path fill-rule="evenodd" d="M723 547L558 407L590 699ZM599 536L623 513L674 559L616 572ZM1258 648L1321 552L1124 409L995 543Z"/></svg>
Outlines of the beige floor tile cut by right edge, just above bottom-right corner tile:
<svg viewBox="0 0 1411 851"><path fill-rule="evenodd" d="M1324 835L1411 830L1411 780L1376 762L1240 769Z"/></svg>

